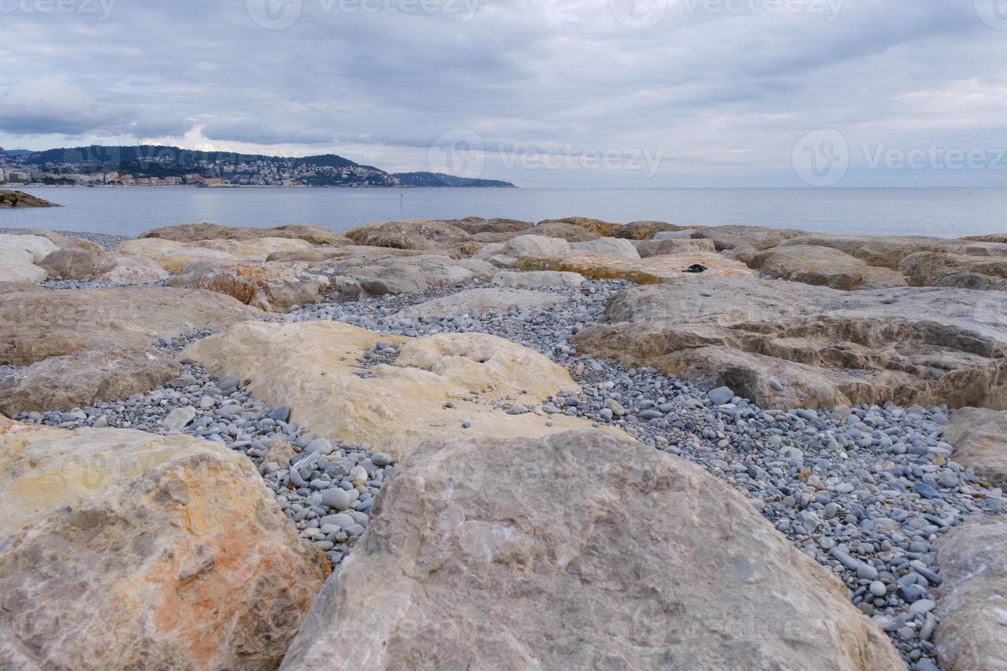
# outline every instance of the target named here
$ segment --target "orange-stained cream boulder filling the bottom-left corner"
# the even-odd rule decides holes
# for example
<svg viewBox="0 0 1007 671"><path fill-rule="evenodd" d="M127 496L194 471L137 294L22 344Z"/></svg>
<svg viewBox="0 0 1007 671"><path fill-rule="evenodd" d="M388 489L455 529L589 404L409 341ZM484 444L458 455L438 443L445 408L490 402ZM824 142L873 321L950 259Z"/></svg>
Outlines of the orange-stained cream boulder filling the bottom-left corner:
<svg viewBox="0 0 1007 671"><path fill-rule="evenodd" d="M214 443L6 423L0 463L6 668L274 669L328 572Z"/></svg>

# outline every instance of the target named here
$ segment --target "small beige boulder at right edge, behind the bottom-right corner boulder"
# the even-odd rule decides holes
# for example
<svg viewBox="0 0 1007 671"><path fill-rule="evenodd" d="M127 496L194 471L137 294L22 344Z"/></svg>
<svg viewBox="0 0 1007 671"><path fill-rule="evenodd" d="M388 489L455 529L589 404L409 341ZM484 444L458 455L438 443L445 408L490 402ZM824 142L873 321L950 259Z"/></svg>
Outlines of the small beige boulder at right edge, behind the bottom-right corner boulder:
<svg viewBox="0 0 1007 671"><path fill-rule="evenodd" d="M955 461L987 482L1007 485L1007 412L962 407L951 413L944 431Z"/></svg>

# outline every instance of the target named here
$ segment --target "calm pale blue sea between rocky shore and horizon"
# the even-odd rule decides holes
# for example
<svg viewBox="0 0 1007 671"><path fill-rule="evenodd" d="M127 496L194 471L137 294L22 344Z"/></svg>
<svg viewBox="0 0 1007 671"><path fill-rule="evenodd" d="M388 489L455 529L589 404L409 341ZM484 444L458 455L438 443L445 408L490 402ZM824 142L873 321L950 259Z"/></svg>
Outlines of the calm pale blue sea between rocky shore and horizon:
<svg viewBox="0 0 1007 671"><path fill-rule="evenodd" d="M62 207L0 209L0 227L136 235L209 221L313 223L340 231L402 218L570 215L608 221L748 224L959 237L1007 231L1007 188L824 189L194 189L31 188Z"/></svg>

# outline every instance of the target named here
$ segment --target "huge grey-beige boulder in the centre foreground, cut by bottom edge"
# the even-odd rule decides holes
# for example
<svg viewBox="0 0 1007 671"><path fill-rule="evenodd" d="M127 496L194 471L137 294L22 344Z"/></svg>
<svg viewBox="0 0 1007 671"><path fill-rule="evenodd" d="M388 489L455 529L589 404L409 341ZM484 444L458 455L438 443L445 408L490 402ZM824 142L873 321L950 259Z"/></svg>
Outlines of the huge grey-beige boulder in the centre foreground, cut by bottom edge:
<svg viewBox="0 0 1007 671"><path fill-rule="evenodd" d="M744 496L598 432L417 450L281 669L333 659L380 669L904 668L843 583Z"/></svg>

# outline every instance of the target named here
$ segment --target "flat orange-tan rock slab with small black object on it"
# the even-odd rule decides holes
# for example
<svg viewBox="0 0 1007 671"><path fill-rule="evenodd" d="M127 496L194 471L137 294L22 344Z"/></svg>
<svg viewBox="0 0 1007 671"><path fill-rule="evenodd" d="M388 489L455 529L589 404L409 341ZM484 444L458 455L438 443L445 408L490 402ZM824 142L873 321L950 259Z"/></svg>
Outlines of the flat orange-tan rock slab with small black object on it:
<svg viewBox="0 0 1007 671"><path fill-rule="evenodd" d="M706 272L683 273L696 264L706 267ZM755 274L747 266L715 251L688 251L638 260L613 259L591 251L573 251L562 258L526 257L519 259L514 266L523 271L565 271L580 273L595 280L629 280L641 285L698 278L755 279Z"/></svg>

